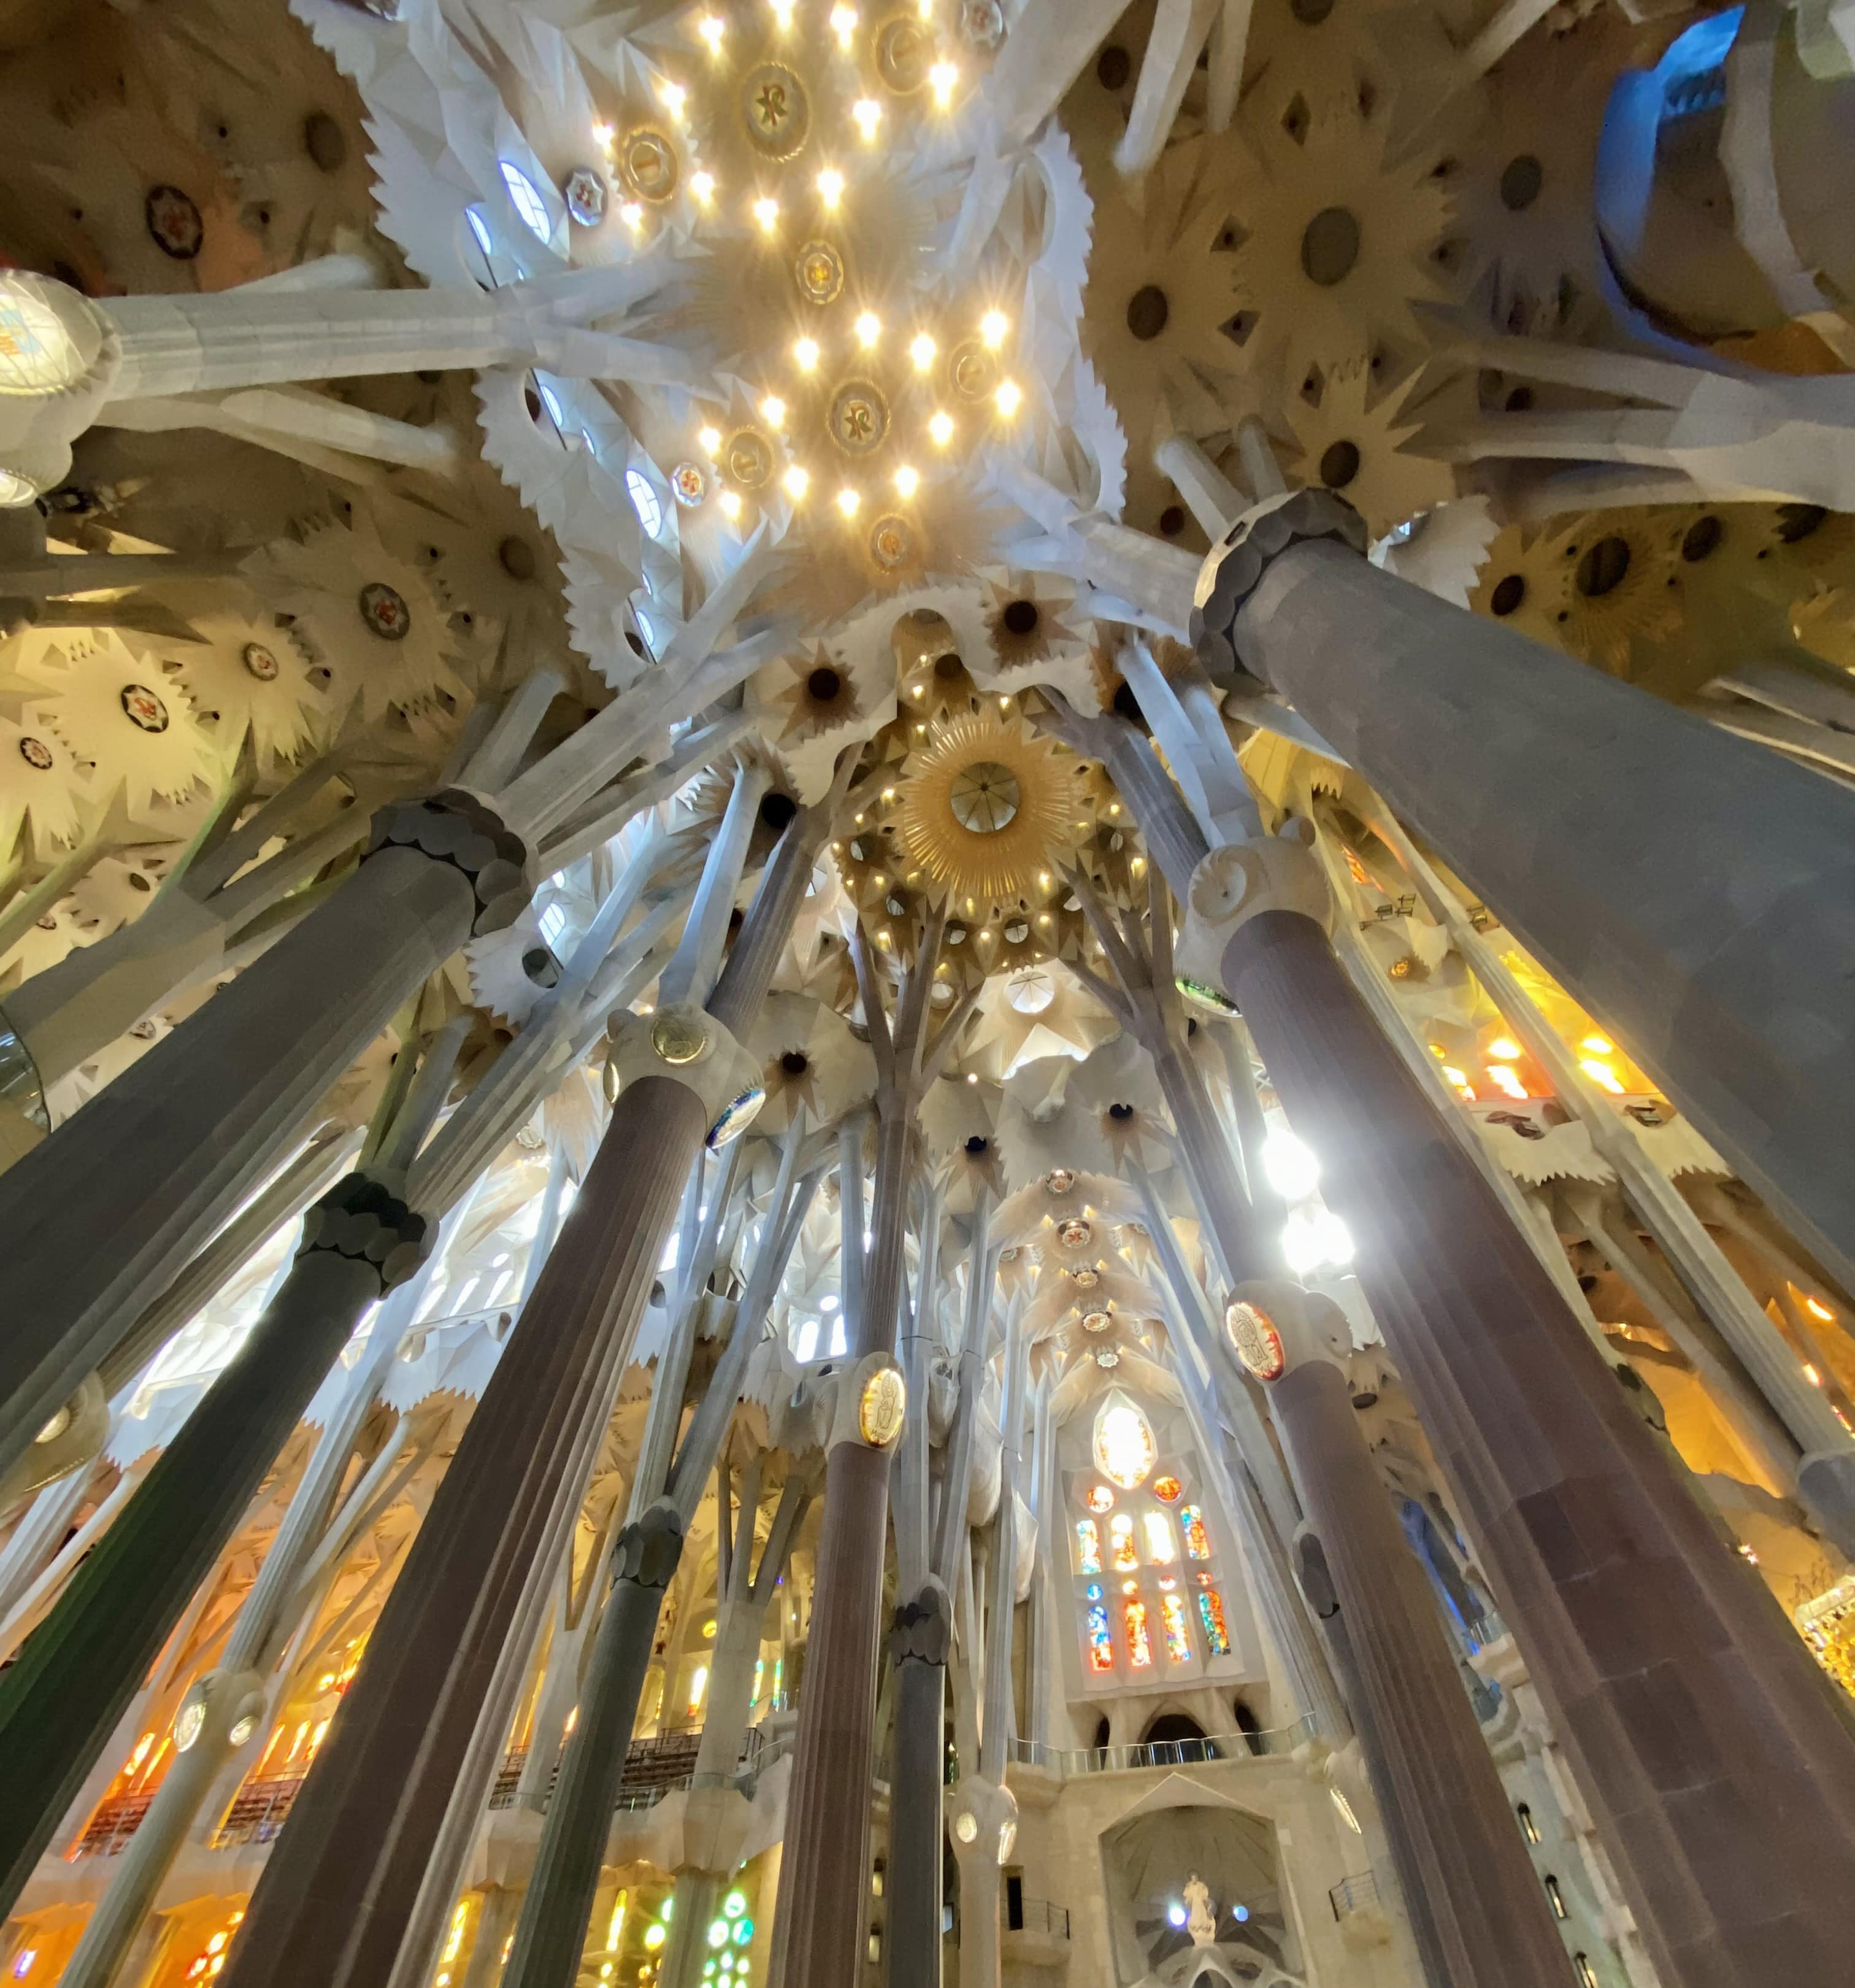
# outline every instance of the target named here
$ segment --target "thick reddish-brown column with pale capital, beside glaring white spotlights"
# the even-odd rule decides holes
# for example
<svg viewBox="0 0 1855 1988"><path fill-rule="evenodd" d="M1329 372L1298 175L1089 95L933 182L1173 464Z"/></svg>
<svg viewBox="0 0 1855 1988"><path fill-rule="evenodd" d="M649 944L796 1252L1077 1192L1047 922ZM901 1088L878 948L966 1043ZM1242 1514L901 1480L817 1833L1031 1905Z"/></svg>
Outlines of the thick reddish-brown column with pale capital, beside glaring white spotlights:
<svg viewBox="0 0 1855 1988"><path fill-rule="evenodd" d="M1831 1982L1855 1741L1378 1032L1284 841L1213 851L1181 958L1239 1004L1668 1988Z"/></svg>

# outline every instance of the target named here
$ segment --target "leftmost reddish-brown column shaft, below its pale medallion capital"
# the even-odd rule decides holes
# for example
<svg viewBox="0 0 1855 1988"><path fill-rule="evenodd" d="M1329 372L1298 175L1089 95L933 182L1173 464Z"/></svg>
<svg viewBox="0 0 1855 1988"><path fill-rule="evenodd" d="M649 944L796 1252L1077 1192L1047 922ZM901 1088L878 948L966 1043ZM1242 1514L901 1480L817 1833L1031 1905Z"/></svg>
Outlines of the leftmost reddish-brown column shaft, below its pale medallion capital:
<svg viewBox="0 0 1855 1988"><path fill-rule="evenodd" d="M270 1853L225 1988L378 1988L392 1972L589 1392L636 1330L704 1131L702 1101L670 1077L618 1093Z"/></svg>

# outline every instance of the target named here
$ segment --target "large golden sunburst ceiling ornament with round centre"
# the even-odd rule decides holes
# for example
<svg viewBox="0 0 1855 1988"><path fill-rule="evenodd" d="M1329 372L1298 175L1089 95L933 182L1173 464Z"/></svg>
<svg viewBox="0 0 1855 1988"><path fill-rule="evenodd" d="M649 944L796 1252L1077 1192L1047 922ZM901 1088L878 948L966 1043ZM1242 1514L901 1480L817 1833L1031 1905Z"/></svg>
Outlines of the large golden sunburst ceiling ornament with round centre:
<svg viewBox="0 0 1855 1988"><path fill-rule="evenodd" d="M1020 720L954 718L903 765L901 831L911 859L956 899L1042 899L1076 833L1074 763Z"/></svg>

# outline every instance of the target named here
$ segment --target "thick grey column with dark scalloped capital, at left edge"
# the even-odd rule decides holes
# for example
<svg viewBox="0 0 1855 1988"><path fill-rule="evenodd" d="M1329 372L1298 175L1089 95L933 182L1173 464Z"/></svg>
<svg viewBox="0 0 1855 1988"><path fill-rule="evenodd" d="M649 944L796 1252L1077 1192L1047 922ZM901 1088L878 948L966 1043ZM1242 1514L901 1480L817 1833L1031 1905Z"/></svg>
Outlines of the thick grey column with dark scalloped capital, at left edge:
<svg viewBox="0 0 1855 1988"><path fill-rule="evenodd" d="M0 1469L302 1137L406 996L527 897L523 845L479 797L382 809L326 905L0 1175Z"/></svg>

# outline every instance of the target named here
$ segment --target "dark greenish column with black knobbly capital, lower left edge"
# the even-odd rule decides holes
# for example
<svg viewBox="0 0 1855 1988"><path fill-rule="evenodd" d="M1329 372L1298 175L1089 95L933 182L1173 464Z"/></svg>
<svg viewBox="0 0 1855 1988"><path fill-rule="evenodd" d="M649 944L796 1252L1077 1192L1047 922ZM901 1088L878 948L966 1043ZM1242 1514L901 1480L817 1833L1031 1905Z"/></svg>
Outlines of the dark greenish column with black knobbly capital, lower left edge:
<svg viewBox="0 0 1855 1988"><path fill-rule="evenodd" d="M8 1905L360 1314L423 1252L423 1217L368 1175L326 1195L270 1308L0 1676Z"/></svg>

